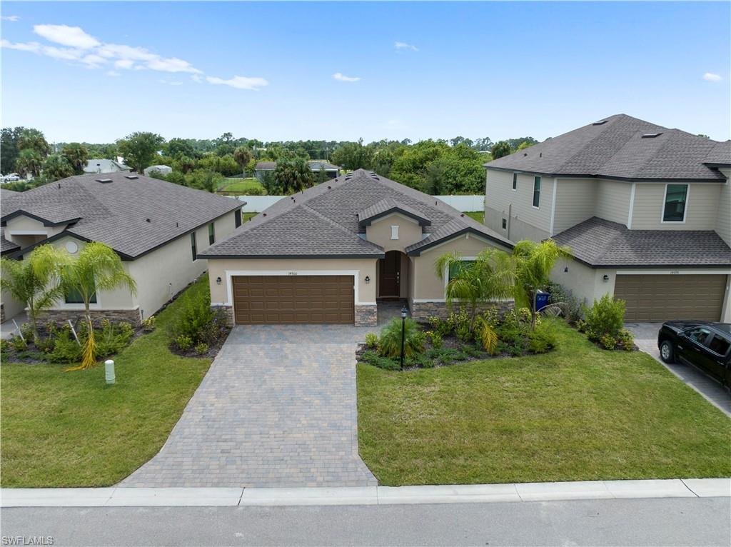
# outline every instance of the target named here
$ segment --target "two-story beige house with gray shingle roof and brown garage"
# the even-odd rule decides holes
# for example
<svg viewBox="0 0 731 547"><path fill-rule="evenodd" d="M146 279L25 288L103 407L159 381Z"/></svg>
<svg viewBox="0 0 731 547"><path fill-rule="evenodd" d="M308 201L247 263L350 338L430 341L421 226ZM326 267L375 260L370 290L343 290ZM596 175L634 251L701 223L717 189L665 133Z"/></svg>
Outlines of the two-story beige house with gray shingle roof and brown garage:
<svg viewBox="0 0 731 547"><path fill-rule="evenodd" d="M618 114L485 167L485 225L571 247L553 279L586 303L731 321L731 141Z"/></svg>

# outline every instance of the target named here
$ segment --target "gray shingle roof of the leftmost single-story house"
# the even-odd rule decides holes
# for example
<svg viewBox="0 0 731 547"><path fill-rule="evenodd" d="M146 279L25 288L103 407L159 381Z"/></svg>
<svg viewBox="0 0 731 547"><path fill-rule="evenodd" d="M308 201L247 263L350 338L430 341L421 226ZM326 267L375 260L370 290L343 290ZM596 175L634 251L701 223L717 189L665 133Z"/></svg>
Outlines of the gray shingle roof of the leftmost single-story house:
<svg viewBox="0 0 731 547"><path fill-rule="evenodd" d="M237 200L129 173L64 178L2 200L0 219L27 213L135 258L240 207ZM100 183L99 178L110 179ZM148 222L149 219L149 222Z"/></svg>

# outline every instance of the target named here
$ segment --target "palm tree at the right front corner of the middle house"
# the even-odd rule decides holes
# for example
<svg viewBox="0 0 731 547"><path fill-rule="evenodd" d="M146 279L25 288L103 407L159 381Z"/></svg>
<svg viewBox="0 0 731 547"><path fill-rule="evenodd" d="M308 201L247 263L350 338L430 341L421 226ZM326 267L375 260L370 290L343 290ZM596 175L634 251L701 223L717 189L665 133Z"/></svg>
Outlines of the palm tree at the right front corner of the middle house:
<svg viewBox="0 0 731 547"><path fill-rule="evenodd" d="M515 299L531 309L531 328L536 326L536 297L548 286L556 260L571 257L571 249L556 244L553 239L536 243L523 240L512 250L515 258Z"/></svg>

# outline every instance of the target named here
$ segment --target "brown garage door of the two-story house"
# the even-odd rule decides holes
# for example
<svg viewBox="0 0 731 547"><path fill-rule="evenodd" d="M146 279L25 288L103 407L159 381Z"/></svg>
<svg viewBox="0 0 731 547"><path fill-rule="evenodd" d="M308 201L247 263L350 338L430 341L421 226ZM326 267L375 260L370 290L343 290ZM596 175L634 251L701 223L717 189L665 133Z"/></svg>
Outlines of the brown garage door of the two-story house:
<svg viewBox="0 0 731 547"><path fill-rule="evenodd" d="M618 275L614 295L627 303L627 321L718 321L724 275Z"/></svg>

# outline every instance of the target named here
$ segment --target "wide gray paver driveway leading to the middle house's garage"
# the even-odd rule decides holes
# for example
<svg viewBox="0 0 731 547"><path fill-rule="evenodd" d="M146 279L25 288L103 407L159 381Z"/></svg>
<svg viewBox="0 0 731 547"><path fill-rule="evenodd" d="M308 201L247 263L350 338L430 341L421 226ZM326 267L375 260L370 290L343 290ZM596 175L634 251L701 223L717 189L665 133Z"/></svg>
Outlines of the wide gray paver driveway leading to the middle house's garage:
<svg viewBox="0 0 731 547"><path fill-rule="evenodd" d="M237 325L159 454L120 486L373 486L357 452L367 328Z"/></svg>

